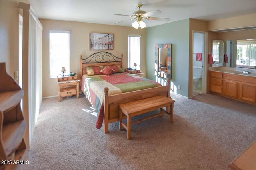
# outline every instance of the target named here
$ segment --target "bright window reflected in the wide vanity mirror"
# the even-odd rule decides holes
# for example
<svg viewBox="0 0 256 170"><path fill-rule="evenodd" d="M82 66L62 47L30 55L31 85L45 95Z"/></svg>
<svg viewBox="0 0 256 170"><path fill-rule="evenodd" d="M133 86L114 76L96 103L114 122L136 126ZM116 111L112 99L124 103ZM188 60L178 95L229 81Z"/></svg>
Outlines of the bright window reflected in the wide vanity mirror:
<svg viewBox="0 0 256 170"><path fill-rule="evenodd" d="M237 41L236 44L236 65L256 66L256 42Z"/></svg>

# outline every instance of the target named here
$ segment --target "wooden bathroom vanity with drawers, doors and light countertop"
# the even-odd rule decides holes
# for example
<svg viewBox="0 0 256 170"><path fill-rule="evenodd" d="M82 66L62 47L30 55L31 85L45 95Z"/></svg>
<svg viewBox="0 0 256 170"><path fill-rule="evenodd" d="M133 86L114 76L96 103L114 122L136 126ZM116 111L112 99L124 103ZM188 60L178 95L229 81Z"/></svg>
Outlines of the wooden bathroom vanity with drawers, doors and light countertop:
<svg viewBox="0 0 256 170"><path fill-rule="evenodd" d="M243 70L246 69L210 67L210 92L256 105L256 70L250 73Z"/></svg>

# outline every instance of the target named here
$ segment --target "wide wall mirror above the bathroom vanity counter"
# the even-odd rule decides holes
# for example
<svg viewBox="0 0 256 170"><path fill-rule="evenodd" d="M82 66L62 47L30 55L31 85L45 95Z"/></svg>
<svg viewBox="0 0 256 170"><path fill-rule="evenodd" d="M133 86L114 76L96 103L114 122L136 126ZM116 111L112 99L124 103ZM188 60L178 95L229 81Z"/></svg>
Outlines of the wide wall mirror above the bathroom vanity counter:
<svg viewBox="0 0 256 170"><path fill-rule="evenodd" d="M213 40L212 66L256 69L256 39Z"/></svg>

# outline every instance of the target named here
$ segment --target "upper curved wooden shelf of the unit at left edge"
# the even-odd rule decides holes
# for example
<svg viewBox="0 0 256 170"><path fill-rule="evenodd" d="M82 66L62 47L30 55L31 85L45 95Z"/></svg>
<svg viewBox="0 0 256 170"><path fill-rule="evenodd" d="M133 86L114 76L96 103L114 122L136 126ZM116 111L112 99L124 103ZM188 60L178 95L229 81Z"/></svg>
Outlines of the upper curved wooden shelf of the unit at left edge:
<svg viewBox="0 0 256 170"><path fill-rule="evenodd" d="M22 90L0 92L0 110L4 113L16 107L23 95Z"/></svg>

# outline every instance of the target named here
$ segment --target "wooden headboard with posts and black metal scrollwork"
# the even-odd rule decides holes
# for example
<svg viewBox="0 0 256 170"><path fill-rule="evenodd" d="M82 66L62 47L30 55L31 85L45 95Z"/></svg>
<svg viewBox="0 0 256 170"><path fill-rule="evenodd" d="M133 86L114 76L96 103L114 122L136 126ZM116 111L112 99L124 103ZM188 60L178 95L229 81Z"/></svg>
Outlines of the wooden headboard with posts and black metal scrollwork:
<svg viewBox="0 0 256 170"><path fill-rule="evenodd" d="M111 66L111 65L118 65L123 70L123 54L121 57L116 57L115 55L100 51L96 52L85 59L82 59L82 55L80 54L80 69L79 69L79 78L82 80L82 76L86 73L86 67L92 66Z"/></svg>

